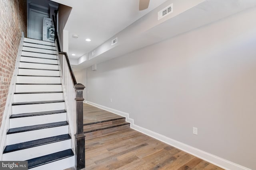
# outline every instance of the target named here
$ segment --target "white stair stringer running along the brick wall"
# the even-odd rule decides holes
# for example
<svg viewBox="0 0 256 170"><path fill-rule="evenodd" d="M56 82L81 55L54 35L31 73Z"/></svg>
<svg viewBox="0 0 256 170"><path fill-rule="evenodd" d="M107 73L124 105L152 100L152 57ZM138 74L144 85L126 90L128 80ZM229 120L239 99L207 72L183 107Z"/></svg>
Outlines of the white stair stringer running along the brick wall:
<svg viewBox="0 0 256 170"><path fill-rule="evenodd" d="M20 38L20 45L18 48L18 53L16 57L15 67L12 74L12 79L9 86L8 96L6 99L6 104L4 107L4 114L2 118L2 124L0 127L0 160L2 160L3 157L3 150L6 147L6 133L9 129L9 117L12 115L12 103L14 101L14 91L15 91L15 84L17 80L17 74L18 74L18 67L20 63L21 58L21 52L22 52L22 46L24 42L24 32L22 32L21 38Z"/></svg>

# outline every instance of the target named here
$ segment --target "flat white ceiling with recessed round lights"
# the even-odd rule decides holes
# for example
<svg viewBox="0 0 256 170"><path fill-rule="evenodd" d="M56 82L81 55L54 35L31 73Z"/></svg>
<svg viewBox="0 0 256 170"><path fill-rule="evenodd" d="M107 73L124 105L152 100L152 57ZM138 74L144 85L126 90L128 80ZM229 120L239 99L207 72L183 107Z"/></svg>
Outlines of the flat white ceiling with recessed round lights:
<svg viewBox="0 0 256 170"><path fill-rule="evenodd" d="M53 0L72 7L65 26L69 31L69 57L79 58L138 20L166 0L150 0L139 11L139 0ZM79 38L72 38L72 35ZM90 38L92 41L85 41ZM76 54L72 56L71 54Z"/></svg>

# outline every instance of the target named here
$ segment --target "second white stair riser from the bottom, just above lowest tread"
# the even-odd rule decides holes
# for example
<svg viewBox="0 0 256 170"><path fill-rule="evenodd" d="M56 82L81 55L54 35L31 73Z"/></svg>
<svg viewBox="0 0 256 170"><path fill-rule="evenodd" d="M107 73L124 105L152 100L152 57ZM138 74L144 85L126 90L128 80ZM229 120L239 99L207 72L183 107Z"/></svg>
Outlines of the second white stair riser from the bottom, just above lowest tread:
<svg viewBox="0 0 256 170"><path fill-rule="evenodd" d="M71 139L3 154L3 160L28 160L71 148Z"/></svg>

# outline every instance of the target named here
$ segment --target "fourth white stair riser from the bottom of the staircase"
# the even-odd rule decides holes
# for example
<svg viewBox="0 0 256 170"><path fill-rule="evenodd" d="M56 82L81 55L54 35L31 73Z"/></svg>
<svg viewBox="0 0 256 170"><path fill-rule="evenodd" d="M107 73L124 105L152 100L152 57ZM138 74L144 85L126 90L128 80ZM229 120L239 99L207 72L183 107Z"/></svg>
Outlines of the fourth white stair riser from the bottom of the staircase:
<svg viewBox="0 0 256 170"><path fill-rule="evenodd" d="M12 118L10 119L10 128L66 121L66 118L66 113Z"/></svg>

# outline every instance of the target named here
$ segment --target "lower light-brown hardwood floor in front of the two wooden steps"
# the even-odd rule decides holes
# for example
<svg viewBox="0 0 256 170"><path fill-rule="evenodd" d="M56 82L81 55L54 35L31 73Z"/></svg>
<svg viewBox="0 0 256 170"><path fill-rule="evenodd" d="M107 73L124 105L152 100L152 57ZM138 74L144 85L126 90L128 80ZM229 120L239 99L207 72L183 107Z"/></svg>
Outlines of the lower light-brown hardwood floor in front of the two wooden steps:
<svg viewBox="0 0 256 170"><path fill-rule="evenodd" d="M86 141L88 170L222 170L133 129Z"/></svg>

